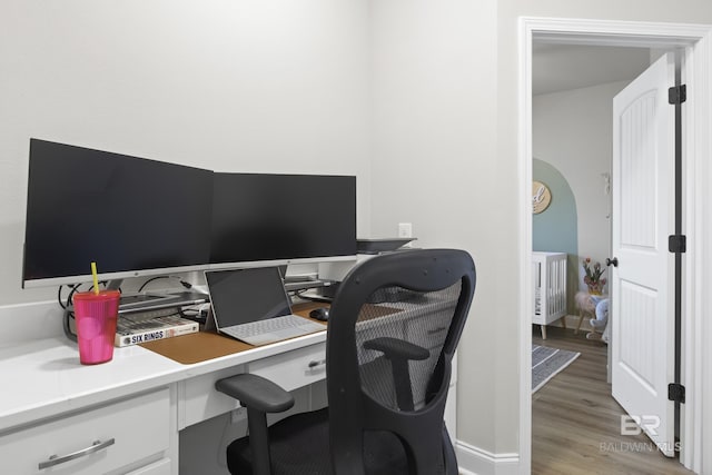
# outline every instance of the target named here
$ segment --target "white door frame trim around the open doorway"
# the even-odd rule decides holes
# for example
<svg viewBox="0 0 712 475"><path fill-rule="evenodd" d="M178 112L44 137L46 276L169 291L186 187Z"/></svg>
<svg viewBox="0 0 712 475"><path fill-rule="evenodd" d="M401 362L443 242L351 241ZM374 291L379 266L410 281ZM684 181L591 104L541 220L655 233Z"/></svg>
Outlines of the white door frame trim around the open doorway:
<svg viewBox="0 0 712 475"><path fill-rule="evenodd" d="M521 21L521 101L520 101L520 167L521 190L522 190L522 245L521 258L523 263L531 263L531 243L532 243L532 224L531 224L531 189L532 182L532 46L535 39L546 39L548 41L560 41L567 43L584 44L609 44L609 46L646 46L663 48L682 48L684 50L685 61L683 63L683 79L689 85L694 85L701 97L708 97L709 85L705 83L704 77L710 73L710 63L708 60L706 48L709 48L706 39L710 33L709 27L691 27L691 26L673 26L661 23L631 23L616 21L591 21L591 20L552 20L552 19L522 19ZM704 55L702 53L704 52ZM696 61L695 68L692 68L692 59ZM684 141L688 144L688 150L706 149L708 139L694 133L695 125L708 125L708 110L700 107L692 110L686 117L689 132L686 132ZM696 146L698 148L695 148ZM689 154L685 168L694 166L696 157ZM694 168L692 168L694 169ZM688 171L686 182L688 198L685 207L686 222L694 225L694 216L689 216L689 210L693 208L690 197L694 194L695 186L700 186ZM525 192L527 191L527 192ZM528 196L527 196L528 195ZM528 205L528 206L525 206ZM689 218L689 219L688 219ZM688 254L686 259L694 261L693 256ZM691 299L695 293L700 293L694 286L694 274L690 271L692 265L688 265L688 271L684 276L685 285L690 289L685 294L685 304L688 308L693 308ZM533 306L532 295L532 274L523 273L522 288L525 298L522 303L522 328L521 328L521 358L522 368L531 367L531 315ZM683 305L685 305L683 304ZM700 323L701 316L698 313L691 313L689 316L689 325ZM685 354L683 360L689 366L694 366L694 342L685 342ZM531 373L522 370L521 373L521 418L520 418L520 453L522 473L528 473L531 469ZM685 407L682 416L684 429L681 433L683 442L681 448L681 462L689 468L700 471L700 453L701 441L694 438L695 427L699 431L700 423L694 420L694 408ZM694 456L698 452L696 457Z"/></svg>

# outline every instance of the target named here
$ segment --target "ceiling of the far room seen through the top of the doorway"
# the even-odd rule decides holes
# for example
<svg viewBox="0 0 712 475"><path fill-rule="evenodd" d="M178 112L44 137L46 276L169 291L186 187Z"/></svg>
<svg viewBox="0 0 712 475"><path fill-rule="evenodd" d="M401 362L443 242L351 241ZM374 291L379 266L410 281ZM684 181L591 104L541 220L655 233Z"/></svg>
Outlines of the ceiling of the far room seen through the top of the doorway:
<svg viewBox="0 0 712 475"><path fill-rule="evenodd" d="M532 93L630 81L650 66L647 48L562 44L534 41Z"/></svg>

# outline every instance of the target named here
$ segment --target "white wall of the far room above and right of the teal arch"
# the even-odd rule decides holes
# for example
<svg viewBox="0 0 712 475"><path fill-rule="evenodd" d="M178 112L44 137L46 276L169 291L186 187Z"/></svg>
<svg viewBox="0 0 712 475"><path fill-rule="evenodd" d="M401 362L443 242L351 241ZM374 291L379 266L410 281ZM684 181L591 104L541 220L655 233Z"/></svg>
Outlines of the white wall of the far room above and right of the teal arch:
<svg viewBox="0 0 712 475"><path fill-rule="evenodd" d="M611 174L613 97L627 81L534 96L534 158L556 168L576 200L580 259L611 256L611 195L602 174ZM582 269L580 269L582 271Z"/></svg>

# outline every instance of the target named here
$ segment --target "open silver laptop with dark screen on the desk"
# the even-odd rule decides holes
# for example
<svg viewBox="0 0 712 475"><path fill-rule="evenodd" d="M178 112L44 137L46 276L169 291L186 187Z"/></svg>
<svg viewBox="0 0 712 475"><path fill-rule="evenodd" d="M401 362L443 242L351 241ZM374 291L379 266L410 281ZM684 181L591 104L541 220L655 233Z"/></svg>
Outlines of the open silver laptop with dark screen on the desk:
<svg viewBox="0 0 712 475"><path fill-rule="evenodd" d="M323 331L324 325L291 314L277 267L206 270L217 330L259 346Z"/></svg>

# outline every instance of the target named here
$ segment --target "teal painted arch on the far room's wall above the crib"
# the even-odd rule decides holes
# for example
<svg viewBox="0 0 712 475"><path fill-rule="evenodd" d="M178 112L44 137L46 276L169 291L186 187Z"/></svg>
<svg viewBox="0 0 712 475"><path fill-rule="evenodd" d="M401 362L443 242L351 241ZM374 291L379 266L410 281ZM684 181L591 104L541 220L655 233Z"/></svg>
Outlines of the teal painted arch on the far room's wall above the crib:
<svg viewBox="0 0 712 475"><path fill-rule="evenodd" d="M532 215L532 250L566 253L566 304L575 314L574 296L578 290L578 217L576 199L568 181L552 165L534 159L533 177L546 185L552 200L544 211Z"/></svg>

